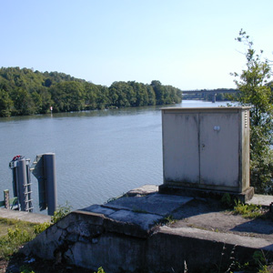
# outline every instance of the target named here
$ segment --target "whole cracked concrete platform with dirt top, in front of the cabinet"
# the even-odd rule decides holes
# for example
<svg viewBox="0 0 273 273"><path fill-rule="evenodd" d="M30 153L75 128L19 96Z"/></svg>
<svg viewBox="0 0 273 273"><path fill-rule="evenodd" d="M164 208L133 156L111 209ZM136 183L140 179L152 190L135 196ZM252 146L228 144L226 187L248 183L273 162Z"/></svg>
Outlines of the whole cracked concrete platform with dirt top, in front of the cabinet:
<svg viewBox="0 0 273 273"><path fill-rule="evenodd" d="M268 203L258 199L269 214ZM248 219L215 200L162 195L157 186L145 186L72 212L23 252L107 273L183 272L185 263L189 272L199 272L213 265L227 269L230 257L243 265L255 251L271 255L272 239L271 217Z"/></svg>

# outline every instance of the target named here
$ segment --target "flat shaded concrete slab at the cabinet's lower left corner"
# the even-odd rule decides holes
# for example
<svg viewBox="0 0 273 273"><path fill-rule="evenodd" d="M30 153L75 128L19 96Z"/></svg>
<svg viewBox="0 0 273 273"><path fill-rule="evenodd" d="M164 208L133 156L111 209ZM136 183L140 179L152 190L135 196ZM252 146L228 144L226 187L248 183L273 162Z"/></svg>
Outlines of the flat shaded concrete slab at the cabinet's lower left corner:
<svg viewBox="0 0 273 273"><path fill-rule="evenodd" d="M169 196L156 193L145 197L121 197L107 203L103 207L126 209L165 217L192 199L193 197Z"/></svg>

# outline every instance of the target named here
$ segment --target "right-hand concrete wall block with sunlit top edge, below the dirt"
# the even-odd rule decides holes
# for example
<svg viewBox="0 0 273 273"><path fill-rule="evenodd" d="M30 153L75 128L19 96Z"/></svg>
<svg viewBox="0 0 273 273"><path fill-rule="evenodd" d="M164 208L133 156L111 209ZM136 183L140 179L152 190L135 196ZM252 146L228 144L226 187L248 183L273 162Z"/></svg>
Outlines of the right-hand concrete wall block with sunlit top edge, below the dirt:
<svg viewBox="0 0 273 273"><path fill-rule="evenodd" d="M247 262L256 250L272 248L268 244L266 240L261 243L260 238L197 228L160 227L147 239L146 268L148 272L184 272L186 262L190 272L200 272L200 268L206 271L213 265L225 271L231 263L230 257L240 263Z"/></svg>

